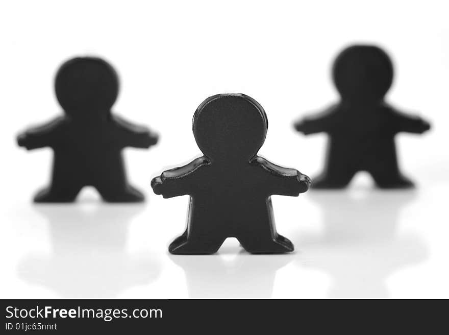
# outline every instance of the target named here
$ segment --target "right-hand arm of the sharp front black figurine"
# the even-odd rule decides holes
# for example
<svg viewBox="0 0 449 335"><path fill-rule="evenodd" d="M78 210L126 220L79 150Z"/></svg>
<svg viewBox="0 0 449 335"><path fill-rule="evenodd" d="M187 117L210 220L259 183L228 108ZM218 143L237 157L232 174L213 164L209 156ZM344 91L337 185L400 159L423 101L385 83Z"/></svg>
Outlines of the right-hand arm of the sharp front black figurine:
<svg viewBox="0 0 449 335"><path fill-rule="evenodd" d="M268 172L270 184L275 185L272 194L296 197L309 189L310 178L301 172L273 164L262 157L257 157L255 161Z"/></svg>

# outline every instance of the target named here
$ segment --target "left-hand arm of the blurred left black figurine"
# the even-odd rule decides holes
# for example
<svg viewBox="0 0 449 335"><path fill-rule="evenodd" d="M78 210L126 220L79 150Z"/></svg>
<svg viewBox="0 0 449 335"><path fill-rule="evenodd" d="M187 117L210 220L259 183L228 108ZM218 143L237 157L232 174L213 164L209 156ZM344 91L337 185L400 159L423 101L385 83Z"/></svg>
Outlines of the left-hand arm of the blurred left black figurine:
<svg viewBox="0 0 449 335"><path fill-rule="evenodd" d="M27 150L51 146L64 120L64 116L59 116L44 125L27 129L17 136L17 144Z"/></svg>

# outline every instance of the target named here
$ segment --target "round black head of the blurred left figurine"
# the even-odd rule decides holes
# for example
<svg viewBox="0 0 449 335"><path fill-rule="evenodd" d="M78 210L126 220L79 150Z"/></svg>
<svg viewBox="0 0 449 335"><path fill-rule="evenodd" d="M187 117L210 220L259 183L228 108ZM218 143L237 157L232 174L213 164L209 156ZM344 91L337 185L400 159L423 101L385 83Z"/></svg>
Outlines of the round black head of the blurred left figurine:
<svg viewBox="0 0 449 335"><path fill-rule="evenodd" d="M55 89L66 113L94 116L110 111L118 95L118 76L103 59L73 58L59 68Z"/></svg>

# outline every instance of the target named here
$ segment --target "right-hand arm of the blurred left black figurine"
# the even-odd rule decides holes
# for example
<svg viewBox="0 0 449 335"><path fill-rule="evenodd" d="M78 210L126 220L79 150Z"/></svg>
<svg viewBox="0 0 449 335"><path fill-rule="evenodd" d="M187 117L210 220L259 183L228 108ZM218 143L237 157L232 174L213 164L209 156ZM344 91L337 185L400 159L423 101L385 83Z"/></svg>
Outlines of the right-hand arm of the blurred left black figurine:
<svg viewBox="0 0 449 335"><path fill-rule="evenodd" d="M117 115L113 115L112 118L120 129L121 140L124 146L149 148L158 142L159 136L147 127L134 125Z"/></svg>

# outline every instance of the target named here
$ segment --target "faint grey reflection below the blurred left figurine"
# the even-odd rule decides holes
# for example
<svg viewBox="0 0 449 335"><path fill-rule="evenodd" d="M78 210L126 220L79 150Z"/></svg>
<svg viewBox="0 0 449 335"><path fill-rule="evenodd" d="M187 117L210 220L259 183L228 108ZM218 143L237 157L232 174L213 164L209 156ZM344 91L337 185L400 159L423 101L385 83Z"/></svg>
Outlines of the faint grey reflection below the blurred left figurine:
<svg viewBox="0 0 449 335"><path fill-rule="evenodd" d="M128 226L143 205L84 203L36 205L48 220L52 252L30 255L19 277L62 297L111 298L131 286L156 279L160 266L126 252Z"/></svg>

